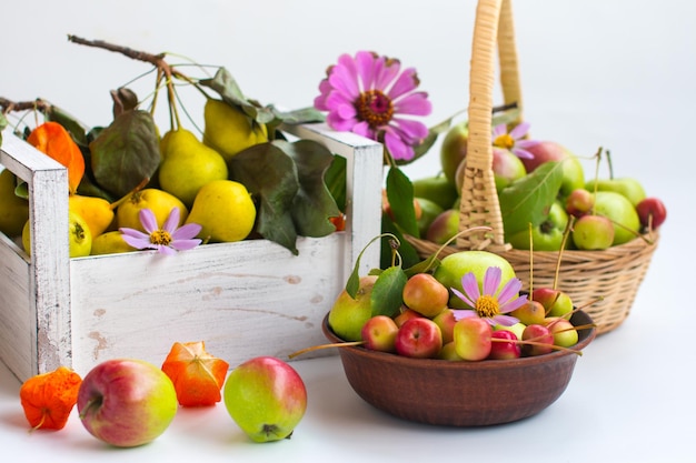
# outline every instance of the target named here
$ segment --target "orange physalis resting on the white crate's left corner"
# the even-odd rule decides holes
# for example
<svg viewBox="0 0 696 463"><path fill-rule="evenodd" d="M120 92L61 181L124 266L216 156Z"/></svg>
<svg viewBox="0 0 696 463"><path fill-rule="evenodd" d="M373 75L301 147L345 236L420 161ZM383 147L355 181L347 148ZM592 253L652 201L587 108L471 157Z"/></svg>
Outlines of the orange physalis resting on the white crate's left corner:
<svg viewBox="0 0 696 463"><path fill-rule="evenodd" d="M33 129L27 142L68 169L68 188L74 194L84 175L84 157L70 133L58 122L49 121Z"/></svg>

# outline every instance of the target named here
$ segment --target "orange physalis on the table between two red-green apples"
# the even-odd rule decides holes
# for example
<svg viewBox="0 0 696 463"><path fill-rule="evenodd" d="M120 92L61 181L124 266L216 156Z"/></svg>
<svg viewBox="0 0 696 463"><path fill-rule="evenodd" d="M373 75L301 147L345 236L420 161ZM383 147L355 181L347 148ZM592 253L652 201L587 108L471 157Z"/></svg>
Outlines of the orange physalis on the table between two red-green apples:
<svg viewBox="0 0 696 463"><path fill-rule="evenodd" d="M229 364L206 352L199 342L176 342L171 346L162 371L169 376L182 406L215 405L220 402L220 390Z"/></svg>

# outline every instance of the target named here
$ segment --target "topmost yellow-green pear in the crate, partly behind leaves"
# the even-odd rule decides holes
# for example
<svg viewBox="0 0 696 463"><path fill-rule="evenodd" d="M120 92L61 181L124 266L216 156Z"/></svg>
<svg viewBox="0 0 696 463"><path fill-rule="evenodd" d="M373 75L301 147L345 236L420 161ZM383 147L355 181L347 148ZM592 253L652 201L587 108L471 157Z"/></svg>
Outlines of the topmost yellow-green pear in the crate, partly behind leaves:
<svg viewBox="0 0 696 463"><path fill-rule="evenodd" d="M225 101L208 99L203 108L203 143L226 161L249 147L268 141L265 124L252 122L241 110Z"/></svg>

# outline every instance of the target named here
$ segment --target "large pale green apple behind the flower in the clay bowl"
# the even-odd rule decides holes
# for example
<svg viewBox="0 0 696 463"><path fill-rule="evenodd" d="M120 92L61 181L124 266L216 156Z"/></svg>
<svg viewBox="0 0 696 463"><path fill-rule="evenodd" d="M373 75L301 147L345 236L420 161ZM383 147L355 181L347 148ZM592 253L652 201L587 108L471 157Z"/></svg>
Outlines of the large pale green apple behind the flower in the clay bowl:
<svg viewBox="0 0 696 463"><path fill-rule="evenodd" d="M455 288L464 291L461 288L461 278L468 272L474 272L478 281L479 290L483 291L484 275L489 266L500 268L500 286L515 278L515 269L503 256L489 251L458 251L446 255L435 270L434 276L447 289ZM450 295L449 306L455 309L465 309L464 302L456 295Z"/></svg>

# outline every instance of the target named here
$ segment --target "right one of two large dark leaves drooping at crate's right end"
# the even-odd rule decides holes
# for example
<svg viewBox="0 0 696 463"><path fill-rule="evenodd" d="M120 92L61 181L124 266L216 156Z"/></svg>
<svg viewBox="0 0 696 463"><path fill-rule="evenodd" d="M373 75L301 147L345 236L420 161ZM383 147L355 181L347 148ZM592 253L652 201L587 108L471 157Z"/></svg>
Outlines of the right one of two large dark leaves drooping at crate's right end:
<svg viewBox="0 0 696 463"><path fill-rule="evenodd" d="M302 236L320 238L334 233L336 227L329 218L340 211L334 197L324 183L324 174L334 161L334 155L321 143L312 140L274 143L284 150L297 167L299 190L292 201L292 220L297 233Z"/></svg>

